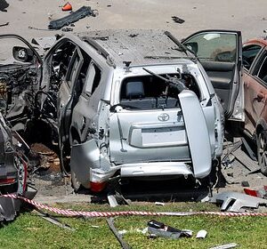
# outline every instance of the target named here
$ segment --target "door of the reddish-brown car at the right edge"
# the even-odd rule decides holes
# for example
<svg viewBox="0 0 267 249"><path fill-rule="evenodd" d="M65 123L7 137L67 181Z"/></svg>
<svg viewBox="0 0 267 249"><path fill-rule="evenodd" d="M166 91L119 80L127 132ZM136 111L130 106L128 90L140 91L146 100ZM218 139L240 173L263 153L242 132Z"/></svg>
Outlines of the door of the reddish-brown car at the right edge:
<svg viewBox="0 0 267 249"><path fill-rule="evenodd" d="M267 128L267 49L258 53L249 70L246 70L245 84L245 131L253 136L261 125Z"/></svg>

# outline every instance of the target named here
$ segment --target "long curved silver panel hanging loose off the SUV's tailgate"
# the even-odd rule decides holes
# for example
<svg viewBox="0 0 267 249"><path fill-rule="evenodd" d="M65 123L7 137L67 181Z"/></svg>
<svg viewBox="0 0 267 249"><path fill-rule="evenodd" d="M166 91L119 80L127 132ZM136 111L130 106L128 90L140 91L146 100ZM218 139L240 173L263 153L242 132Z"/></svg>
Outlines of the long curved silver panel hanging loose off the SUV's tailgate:
<svg viewBox="0 0 267 249"><path fill-rule="evenodd" d="M182 116L186 127L190 155L196 178L204 178L211 172L212 158L206 119L197 95L184 90L179 94Z"/></svg>

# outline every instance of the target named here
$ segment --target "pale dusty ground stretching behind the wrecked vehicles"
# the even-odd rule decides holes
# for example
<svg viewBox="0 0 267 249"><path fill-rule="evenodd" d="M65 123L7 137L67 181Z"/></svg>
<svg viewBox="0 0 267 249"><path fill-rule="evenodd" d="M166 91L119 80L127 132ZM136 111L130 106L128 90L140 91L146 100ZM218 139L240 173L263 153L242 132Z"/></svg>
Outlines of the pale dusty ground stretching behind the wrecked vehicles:
<svg viewBox="0 0 267 249"><path fill-rule="evenodd" d="M30 40L32 37L52 36L58 31L35 30L47 28L49 19L61 18L64 0L0 0L0 33L15 33ZM160 28L186 37L200 29L224 28L241 30L244 41L263 36L267 26L266 0L75 0L69 1L73 10L89 5L98 11L96 17L79 20L74 32L109 28ZM175 23L172 16L185 20Z"/></svg>

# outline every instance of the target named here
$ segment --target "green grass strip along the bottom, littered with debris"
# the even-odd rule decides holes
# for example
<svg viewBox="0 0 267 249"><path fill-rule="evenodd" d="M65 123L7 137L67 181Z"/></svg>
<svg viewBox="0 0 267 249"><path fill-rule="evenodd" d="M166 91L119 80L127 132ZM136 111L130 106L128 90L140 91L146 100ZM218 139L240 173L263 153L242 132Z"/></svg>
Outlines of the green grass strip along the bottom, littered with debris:
<svg viewBox="0 0 267 249"><path fill-rule="evenodd" d="M165 206L134 203L131 206L110 208L109 205L57 205L57 207L85 211L155 211L187 212L217 211L211 204L170 203ZM61 229L44 221L35 212L20 213L15 221L0 229L0 248L120 248L116 237L109 230L105 218L59 218L76 231ZM191 229L193 237L181 239L148 239L136 229L144 229L147 222L156 219L177 229ZM99 228L93 228L99 226ZM115 218L118 230L125 229L125 241L132 248L209 248L214 245L237 243L239 248L267 248L267 217L142 217L128 216ZM196 233L206 229L205 239L196 239Z"/></svg>

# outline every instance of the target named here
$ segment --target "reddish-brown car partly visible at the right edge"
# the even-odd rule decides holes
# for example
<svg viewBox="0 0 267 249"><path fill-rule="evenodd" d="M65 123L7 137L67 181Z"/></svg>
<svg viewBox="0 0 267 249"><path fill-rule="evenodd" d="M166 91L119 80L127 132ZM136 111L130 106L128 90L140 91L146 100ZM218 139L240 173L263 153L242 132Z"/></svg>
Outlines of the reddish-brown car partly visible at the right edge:
<svg viewBox="0 0 267 249"><path fill-rule="evenodd" d="M256 142L261 171L267 175L267 40L243 45L245 133Z"/></svg>

